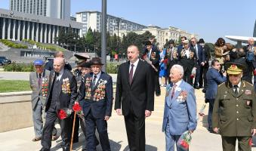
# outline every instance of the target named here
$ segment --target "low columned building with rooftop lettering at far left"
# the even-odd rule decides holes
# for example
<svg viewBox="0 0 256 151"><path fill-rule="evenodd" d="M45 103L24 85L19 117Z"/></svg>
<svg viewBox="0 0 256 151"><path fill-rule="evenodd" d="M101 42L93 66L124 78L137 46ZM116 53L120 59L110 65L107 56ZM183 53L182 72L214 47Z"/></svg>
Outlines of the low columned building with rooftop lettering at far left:
<svg viewBox="0 0 256 151"><path fill-rule="evenodd" d="M21 41L32 39L35 42L56 44L60 29L79 34L82 23L71 20L60 20L35 14L20 13L0 8L0 39Z"/></svg>

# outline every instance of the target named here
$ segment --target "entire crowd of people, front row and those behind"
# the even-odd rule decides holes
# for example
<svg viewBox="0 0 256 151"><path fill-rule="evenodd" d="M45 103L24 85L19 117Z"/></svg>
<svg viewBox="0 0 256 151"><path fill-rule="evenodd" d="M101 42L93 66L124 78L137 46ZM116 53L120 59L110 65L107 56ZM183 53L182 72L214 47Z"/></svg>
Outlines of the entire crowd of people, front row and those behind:
<svg viewBox="0 0 256 151"><path fill-rule="evenodd" d="M209 103L208 131L221 134L223 149L235 150L237 139L240 150L250 150L251 136L256 134L254 39L248 39L245 48L234 48L224 39L217 39L215 59L211 61L210 48L203 39L189 41L183 36L181 45L174 47L174 41L170 41L168 48L153 42L153 38L145 42L141 52L136 45L128 47L128 61L119 66L117 74L115 100L112 77L102 71L99 57L89 60L79 56L80 62L73 70L62 52L46 64L35 60L35 72L29 76L35 129L32 140L41 140L42 151L50 150L51 140L57 139L54 125L59 122L62 148L69 150L70 143L79 141L80 123L86 140L82 150L95 151L98 144L104 151L111 150L107 121L114 100L116 113L124 116L129 149L143 151L145 119L154 110L154 94L161 95L160 86L165 86L162 131L166 150L174 150L185 131L196 130L195 88L205 93L205 103ZM82 116L73 116L74 104L82 107ZM70 116L60 119L61 109ZM71 136L73 121L76 124Z"/></svg>

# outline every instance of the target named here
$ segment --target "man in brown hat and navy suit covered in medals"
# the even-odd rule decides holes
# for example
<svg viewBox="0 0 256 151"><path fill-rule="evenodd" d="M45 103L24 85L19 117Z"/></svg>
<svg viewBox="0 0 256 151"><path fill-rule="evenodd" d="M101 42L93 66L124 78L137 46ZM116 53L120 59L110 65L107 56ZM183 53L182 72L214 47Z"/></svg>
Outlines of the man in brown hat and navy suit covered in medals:
<svg viewBox="0 0 256 151"><path fill-rule="evenodd" d="M85 115L86 146L88 151L96 150L95 128L99 132L103 151L110 151L106 121L109 120L113 105L112 77L101 71L100 58L91 60L91 73L85 75L82 82L79 102L83 102Z"/></svg>

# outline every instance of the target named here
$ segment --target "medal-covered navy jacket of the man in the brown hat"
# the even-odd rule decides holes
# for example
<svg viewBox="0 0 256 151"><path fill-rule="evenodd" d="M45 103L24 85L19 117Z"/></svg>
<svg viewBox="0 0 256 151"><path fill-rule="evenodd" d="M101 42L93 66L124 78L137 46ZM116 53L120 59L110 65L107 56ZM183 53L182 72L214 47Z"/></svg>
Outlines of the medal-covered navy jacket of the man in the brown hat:
<svg viewBox="0 0 256 151"><path fill-rule="evenodd" d="M83 104L84 114L87 116L88 112L91 110L91 114L97 119L111 116L113 105L112 77L105 72L101 72L100 78L94 88L91 88L92 78L92 72L86 74L85 80L80 87L81 95L79 96L79 102ZM102 94L98 100L97 97L95 97L96 95L94 95L97 91L100 91Z"/></svg>

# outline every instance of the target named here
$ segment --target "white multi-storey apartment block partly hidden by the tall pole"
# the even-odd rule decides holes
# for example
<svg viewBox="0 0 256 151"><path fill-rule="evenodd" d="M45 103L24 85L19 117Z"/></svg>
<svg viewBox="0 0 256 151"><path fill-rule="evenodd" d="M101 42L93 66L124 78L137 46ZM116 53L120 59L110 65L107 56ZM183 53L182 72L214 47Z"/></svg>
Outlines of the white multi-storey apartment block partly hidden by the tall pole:
<svg viewBox="0 0 256 151"><path fill-rule="evenodd" d="M90 27L92 31L101 31L101 12L99 11L78 12L76 13L76 21L83 23L83 29L80 32L80 36L85 35ZM106 30L110 35L113 35L113 32L117 32L118 30L127 30L131 32L142 30L146 27L147 26L143 26L120 17L106 15Z"/></svg>

